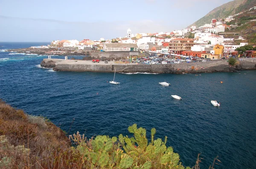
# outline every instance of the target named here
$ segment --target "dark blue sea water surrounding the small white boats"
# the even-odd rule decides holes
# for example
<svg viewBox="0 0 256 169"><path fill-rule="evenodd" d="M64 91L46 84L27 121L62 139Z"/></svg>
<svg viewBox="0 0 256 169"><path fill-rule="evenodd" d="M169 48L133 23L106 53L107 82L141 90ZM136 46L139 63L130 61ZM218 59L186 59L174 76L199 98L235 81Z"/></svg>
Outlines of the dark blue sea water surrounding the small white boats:
<svg viewBox="0 0 256 169"><path fill-rule="evenodd" d="M129 135L136 123L168 137L184 166L256 168L256 71L195 74L55 72L41 68L47 56L5 52L49 43L0 42L0 98L32 115L43 115L62 130L94 135ZM75 56L81 59L83 56ZM64 56L52 56L63 58ZM70 58L70 57L69 57ZM158 82L171 83L169 87ZM223 82L222 84L220 82ZM183 100L176 100L178 95ZM221 103L214 107L211 100Z"/></svg>

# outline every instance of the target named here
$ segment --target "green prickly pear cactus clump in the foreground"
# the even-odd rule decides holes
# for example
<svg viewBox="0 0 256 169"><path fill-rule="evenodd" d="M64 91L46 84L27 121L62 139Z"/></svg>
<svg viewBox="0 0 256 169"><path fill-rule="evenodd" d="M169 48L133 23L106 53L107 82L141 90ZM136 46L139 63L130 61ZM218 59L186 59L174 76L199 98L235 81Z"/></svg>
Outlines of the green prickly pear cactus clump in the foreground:
<svg viewBox="0 0 256 169"><path fill-rule="evenodd" d="M128 127L128 131L134 137L128 138L120 134L117 139L98 135L95 139L86 141L84 135L81 136L78 132L70 135L70 139L78 145L76 149L84 161L87 161L87 168L185 169L180 163L179 155L173 152L172 147L166 147L167 137L164 141L160 138L154 140L154 128L151 129L150 143L146 138L146 130L137 128L137 124Z"/></svg>

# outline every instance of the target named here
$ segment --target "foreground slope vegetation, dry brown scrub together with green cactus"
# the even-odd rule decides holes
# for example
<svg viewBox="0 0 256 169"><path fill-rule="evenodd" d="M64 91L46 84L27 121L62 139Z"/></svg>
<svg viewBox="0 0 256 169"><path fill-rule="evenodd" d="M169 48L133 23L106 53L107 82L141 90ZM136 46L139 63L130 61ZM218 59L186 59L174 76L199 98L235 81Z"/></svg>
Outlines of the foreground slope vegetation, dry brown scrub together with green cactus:
<svg viewBox="0 0 256 169"><path fill-rule="evenodd" d="M47 118L27 115L0 100L0 168L185 169L179 155L166 147L167 137L154 139L154 128L150 142L144 128L134 124L128 131L133 137L87 139L77 132L68 139ZM199 155L193 169L200 168ZM215 161L220 162L215 158L210 169Z"/></svg>

